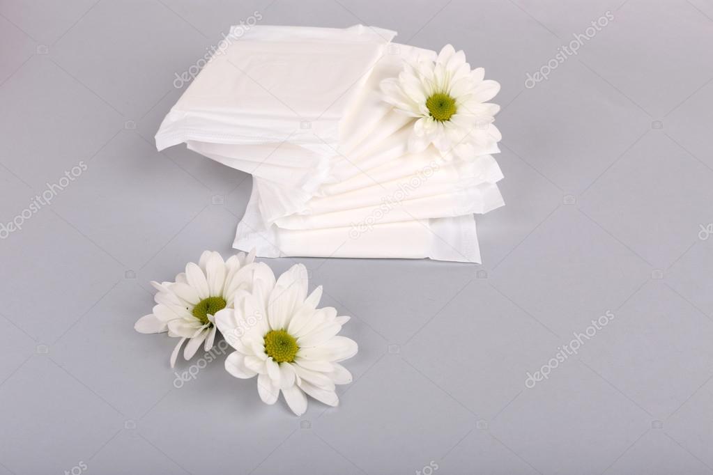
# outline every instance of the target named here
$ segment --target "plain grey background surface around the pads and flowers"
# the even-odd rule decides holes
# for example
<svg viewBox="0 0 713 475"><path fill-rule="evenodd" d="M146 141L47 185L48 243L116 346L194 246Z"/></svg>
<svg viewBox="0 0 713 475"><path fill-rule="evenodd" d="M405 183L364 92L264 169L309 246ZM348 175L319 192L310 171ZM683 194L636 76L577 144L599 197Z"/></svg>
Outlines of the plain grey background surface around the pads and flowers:
<svg viewBox="0 0 713 475"><path fill-rule="evenodd" d="M354 383L303 417L222 362L176 389L176 340L133 331L148 281L230 253L250 179L153 135L174 74L255 11L450 42L503 85L483 266L269 262L354 317ZM707 0L0 0L0 221L88 165L0 241L0 474L712 473L712 47Z"/></svg>

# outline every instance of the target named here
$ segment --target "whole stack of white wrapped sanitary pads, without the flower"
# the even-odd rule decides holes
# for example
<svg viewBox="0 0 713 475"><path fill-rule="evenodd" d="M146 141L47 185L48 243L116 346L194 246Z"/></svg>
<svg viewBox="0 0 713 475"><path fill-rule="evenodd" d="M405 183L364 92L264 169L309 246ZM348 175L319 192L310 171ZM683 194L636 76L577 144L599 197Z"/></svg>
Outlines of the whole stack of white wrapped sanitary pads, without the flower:
<svg viewBox="0 0 713 475"><path fill-rule="evenodd" d="M185 143L252 174L235 248L481 262L473 214L504 204L492 156L500 134L488 121L472 127L479 138L466 152L414 149L417 118L384 99L384 80L436 53L394 36L366 26L253 26L185 90L156 145Z"/></svg>

